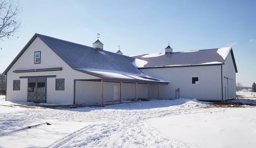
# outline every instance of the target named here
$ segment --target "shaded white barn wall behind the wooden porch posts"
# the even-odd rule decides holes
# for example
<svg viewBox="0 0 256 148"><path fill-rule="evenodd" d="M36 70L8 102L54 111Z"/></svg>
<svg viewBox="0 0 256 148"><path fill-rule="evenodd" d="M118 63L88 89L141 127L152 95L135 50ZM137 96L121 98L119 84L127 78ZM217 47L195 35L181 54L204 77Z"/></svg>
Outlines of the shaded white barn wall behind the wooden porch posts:
<svg viewBox="0 0 256 148"><path fill-rule="evenodd" d="M117 100L114 100L114 86L118 87ZM103 82L103 104L116 103L120 101L120 83ZM137 97L147 98L148 85L137 84ZM153 90L150 93L150 98L157 98L158 85L150 85L150 89ZM154 93L154 97L152 96ZM136 84L134 83L122 83L122 100L135 100L136 98ZM100 104L101 103L101 82L91 81L76 81L76 104Z"/></svg>

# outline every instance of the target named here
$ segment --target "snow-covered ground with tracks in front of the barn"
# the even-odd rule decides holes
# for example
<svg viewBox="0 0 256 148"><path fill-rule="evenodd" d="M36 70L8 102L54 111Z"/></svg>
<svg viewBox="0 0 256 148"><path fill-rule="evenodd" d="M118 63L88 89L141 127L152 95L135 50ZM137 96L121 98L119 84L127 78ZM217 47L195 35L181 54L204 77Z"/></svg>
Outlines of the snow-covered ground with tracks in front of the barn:
<svg viewBox="0 0 256 148"><path fill-rule="evenodd" d="M50 109L4 98L0 147L256 146L255 106L176 99Z"/></svg>

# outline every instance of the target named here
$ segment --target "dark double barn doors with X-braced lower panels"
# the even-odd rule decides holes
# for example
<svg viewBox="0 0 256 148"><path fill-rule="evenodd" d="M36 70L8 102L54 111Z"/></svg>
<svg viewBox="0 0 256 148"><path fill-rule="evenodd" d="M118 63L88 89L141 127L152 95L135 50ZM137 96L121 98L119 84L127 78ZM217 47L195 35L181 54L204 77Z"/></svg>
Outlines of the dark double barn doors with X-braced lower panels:
<svg viewBox="0 0 256 148"><path fill-rule="evenodd" d="M28 78L28 101L46 103L46 77Z"/></svg>

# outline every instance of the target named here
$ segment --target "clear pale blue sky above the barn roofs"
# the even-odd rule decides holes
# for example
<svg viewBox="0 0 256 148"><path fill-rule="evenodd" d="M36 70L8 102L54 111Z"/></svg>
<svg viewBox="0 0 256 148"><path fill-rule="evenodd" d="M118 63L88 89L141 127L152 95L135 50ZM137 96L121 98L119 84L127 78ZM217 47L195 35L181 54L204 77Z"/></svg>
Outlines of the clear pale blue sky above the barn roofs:
<svg viewBox="0 0 256 148"><path fill-rule="evenodd" d="M40 33L125 55L231 46L237 82L256 82L256 1L28 1L20 0L18 39L0 41L0 73Z"/></svg>

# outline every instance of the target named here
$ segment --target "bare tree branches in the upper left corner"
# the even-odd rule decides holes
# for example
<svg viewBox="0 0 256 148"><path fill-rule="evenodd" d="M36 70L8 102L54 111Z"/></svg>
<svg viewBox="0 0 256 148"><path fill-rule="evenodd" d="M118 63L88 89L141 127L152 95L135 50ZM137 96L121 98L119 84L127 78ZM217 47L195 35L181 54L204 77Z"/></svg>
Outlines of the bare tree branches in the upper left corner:
<svg viewBox="0 0 256 148"><path fill-rule="evenodd" d="M18 14L21 10L18 1L0 0L0 40L17 38L15 31L20 27Z"/></svg>

